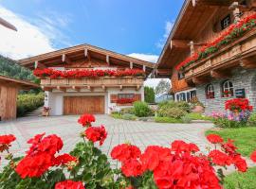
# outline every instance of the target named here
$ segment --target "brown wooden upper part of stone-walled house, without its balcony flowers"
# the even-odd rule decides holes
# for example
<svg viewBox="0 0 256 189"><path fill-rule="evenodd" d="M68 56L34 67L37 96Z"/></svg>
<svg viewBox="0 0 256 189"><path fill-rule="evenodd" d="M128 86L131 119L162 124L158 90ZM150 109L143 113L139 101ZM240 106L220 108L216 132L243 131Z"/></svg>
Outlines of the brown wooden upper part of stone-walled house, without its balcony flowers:
<svg viewBox="0 0 256 189"><path fill-rule="evenodd" d="M255 8L254 0L186 0L157 61L155 77L170 77L173 92L179 93L192 89L196 84L206 83L209 78L227 77L229 68L254 67L256 32L252 29L242 38L229 43L208 58L192 63L185 70L175 69L177 64L227 32L229 26L222 28L222 22L227 16L231 25L254 14ZM161 75L158 71L168 69L172 69L169 75ZM179 74L183 77L178 77Z"/></svg>

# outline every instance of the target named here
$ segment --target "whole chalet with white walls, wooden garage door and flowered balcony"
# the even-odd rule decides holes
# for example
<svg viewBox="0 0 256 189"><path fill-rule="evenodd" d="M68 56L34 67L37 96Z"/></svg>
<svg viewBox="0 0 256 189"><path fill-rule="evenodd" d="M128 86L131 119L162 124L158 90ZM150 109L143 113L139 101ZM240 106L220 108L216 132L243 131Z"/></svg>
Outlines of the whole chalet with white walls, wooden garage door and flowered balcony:
<svg viewBox="0 0 256 189"><path fill-rule="evenodd" d="M19 60L41 78L51 115L109 113L144 100L154 64L82 44Z"/></svg>

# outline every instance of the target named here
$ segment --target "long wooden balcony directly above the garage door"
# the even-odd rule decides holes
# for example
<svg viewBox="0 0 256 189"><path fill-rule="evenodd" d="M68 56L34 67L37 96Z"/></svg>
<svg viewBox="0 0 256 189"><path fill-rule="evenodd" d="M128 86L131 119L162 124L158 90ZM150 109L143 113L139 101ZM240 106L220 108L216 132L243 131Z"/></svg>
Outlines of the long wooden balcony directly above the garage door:
<svg viewBox="0 0 256 189"><path fill-rule="evenodd" d="M66 91L72 89L80 91L87 89L92 91L95 88L106 90L107 88L136 88L143 86L144 77L101 77L101 78L42 78L41 87L44 91L57 89Z"/></svg>

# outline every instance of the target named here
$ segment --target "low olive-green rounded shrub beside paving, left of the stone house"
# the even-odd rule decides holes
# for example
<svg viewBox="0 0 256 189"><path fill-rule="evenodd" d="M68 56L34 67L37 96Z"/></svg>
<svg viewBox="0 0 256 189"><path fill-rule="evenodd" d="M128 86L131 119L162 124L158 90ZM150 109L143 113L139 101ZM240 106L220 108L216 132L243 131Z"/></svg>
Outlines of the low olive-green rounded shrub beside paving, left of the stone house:
<svg viewBox="0 0 256 189"><path fill-rule="evenodd" d="M185 114L187 114L187 112L180 108L168 108L167 106L162 107L157 111L157 115L160 117L173 117L175 119L180 119Z"/></svg>

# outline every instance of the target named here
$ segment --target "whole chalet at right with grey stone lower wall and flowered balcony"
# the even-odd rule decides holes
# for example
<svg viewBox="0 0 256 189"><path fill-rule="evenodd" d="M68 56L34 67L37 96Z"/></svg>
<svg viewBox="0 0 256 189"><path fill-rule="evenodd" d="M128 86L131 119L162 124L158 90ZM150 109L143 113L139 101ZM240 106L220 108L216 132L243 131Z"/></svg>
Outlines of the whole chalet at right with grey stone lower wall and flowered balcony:
<svg viewBox="0 0 256 189"><path fill-rule="evenodd" d="M256 106L256 1L186 0L155 77L171 77L175 100L198 98L206 112L247 97Z"/></svg>

